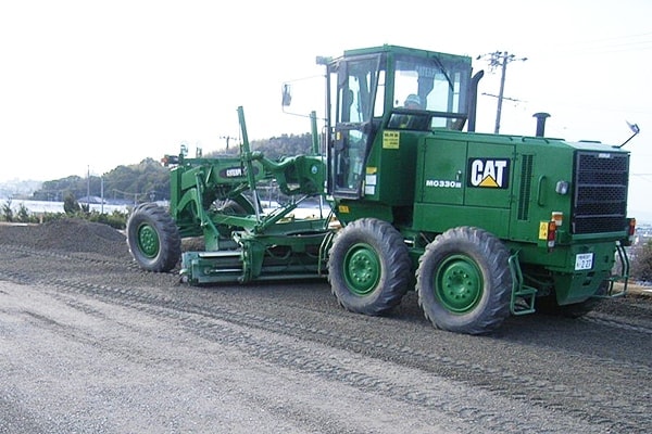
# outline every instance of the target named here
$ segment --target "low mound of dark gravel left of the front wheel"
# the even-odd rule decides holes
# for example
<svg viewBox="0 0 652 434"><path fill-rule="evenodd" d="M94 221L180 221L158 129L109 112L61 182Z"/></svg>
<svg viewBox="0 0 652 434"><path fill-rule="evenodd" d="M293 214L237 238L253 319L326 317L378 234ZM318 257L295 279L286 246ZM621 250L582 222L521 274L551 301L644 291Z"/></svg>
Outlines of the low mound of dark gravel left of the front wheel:
<svg viewBox="0 0 652 434"><path fill-rule="evenodd" d="M65 218L43 225L2 225L0 244L64 252L129 255L125 235L108 225Z"/></svg>

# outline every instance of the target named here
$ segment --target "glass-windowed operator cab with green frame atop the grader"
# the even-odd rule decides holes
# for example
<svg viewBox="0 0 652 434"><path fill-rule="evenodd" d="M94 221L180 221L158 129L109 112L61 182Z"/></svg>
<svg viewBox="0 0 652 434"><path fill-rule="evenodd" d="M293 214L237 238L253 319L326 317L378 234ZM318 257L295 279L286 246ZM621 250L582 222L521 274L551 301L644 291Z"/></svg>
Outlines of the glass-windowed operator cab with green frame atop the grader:
<svg viewBox="0 0 652 434"><path fill-rule="evenodd" d="M474 128L479 77L472 78L468 56L383 46L346 51L324 63L328 190L335 197L364 196L366 161L375 141L381 140L383 149L398 149L400 131L462 130L467 122ZM419 106L404 106L408 97Z"/></svg>

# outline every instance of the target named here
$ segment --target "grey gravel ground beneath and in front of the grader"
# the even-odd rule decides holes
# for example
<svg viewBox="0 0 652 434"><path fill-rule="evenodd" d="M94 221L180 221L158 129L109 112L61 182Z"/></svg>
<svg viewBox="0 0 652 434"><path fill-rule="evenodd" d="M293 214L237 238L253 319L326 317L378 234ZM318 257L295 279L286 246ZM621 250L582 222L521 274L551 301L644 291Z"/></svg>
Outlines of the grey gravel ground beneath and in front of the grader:
<svg viewBox="0 0 652 434"><path fill-rule="evenodd" d="M324 281L192 288L124 234L0 225L0 433L649 433L652 303L435 330Z"/></svg>

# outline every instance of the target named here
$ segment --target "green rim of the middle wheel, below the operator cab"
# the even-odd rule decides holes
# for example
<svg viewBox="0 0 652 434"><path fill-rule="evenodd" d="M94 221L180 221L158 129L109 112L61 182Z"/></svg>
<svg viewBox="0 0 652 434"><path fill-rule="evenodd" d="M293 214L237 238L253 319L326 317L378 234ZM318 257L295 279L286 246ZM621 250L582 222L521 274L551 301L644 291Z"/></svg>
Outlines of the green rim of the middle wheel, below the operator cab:
<svg viewBox="0 0 652 434"><path fill-rule="evenodd" d="M368 244L353 245L344 257L344 279L352 293L366 295L380 280L380 259Z"/></svg>

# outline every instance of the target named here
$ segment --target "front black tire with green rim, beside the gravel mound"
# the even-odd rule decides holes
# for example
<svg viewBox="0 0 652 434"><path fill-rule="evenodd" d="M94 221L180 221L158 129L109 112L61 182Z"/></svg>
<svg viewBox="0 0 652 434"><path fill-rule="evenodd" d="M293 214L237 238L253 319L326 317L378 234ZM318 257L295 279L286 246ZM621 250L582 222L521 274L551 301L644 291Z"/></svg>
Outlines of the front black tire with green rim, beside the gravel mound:
<svg viewBox="0 0 652 434"><path fill-rule="evenodd" d="M131 256L148 271L167 272L181 256L179 231L161 206L145 203L134 208L127 221L127 244Z"/></svg>

